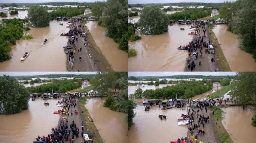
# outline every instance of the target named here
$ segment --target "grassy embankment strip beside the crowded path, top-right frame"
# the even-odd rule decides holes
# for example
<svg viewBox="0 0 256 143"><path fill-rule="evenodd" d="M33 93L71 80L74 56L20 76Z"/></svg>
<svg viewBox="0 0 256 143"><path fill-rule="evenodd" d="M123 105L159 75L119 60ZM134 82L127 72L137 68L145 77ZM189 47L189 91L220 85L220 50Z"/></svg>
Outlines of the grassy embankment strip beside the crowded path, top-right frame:
<svg viewBox="0 0 256 143"><path fill-rule="evenodd" d="M210 41L211 41L211 44L213 43L213 47L215 48L215 56L216 57L215 59L217 59L216 61L216 66L217 68L219 69L219 71L231 71L230 67L229 67L229 64L228 64L228 61L226 60L225 58L225 55L223 54L223 51L220 47L220 44L217 40L214 39L215 34L214 32L210 29L210 28L213 28L211 26L211 24L208 24L210 25L209 27L209 33L210 33Z"/></svg>

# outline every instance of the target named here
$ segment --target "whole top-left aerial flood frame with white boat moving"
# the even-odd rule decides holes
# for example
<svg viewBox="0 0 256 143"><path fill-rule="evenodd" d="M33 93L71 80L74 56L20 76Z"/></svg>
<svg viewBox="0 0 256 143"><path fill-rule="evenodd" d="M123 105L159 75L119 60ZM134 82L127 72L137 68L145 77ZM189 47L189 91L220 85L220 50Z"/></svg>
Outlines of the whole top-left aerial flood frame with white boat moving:
<svg viewBox="0 0 256 143"><path fill-rule="evenodd" d="M12 1L0 2L0 71L128 70L124 1Z"/></svg>

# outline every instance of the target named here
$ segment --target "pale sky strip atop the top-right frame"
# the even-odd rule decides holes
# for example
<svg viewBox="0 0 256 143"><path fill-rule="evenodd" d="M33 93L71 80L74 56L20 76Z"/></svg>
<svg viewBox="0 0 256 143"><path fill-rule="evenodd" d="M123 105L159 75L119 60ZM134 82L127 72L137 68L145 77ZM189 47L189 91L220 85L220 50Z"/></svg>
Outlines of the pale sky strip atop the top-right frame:
<svg viewBox="0 0 256 143"><path fill-rule="evenodd" d="M181 2L198 2L198 3L223 3L224 1L236 0L128 0L128 3L181 3Z"/></svg>

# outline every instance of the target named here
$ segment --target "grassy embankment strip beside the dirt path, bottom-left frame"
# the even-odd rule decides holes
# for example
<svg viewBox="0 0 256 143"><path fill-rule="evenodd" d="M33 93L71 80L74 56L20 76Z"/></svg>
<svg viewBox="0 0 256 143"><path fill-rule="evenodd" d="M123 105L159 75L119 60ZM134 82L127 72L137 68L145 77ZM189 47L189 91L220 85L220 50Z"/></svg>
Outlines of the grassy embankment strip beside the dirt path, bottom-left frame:
<svg viewBox="0 0 256 143"><path fill-rule="evenodd" d="M81 110L82 118L84 123L86 124L86 128L89 130L89 135L92 138L92 140L95 143L103 143L103 140L101 139L100 133L98 132L98 129L96 128L94 122L89 121L88 117L91 117L88 110L85 108L86 99L83 97L79 97L80 102L78 104L78 107Z"/></svg>

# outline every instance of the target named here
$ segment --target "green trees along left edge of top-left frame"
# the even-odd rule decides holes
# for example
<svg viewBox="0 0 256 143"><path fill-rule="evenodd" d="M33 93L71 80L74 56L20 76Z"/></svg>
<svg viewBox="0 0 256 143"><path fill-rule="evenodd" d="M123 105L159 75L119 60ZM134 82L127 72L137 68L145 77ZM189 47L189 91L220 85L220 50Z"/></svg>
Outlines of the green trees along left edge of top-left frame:
<svg viewBox="0 0 256 143"><path fill-rule="evenodd" d="M15 45L16 39L22 37L23 22L20 19L5 19L0 25L0 62L10 59L10 44Z"/></svg>

